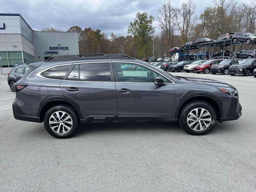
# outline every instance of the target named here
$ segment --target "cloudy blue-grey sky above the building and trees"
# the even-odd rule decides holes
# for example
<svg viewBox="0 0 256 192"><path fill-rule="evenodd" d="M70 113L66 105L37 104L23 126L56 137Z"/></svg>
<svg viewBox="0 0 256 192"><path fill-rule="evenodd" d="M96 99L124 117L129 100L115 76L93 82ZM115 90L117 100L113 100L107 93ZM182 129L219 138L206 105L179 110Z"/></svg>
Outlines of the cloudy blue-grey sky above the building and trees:
<svg viewBox="0 0 256 192"><path fill-rule="evenodd" d="M180 7L185 0L171 0ZM250 3L255 0L237 0ZM82 29L99 28L102 32L126 36L129 23L137 12L146 11L157 18L158 8L166 0L0 0L1 13L20 13L34 30L56 28L66 31L70 26ZM198 16L206 7L213 6L210 0L196 0ZM154 22L157 27L157 21Z"/></svg>

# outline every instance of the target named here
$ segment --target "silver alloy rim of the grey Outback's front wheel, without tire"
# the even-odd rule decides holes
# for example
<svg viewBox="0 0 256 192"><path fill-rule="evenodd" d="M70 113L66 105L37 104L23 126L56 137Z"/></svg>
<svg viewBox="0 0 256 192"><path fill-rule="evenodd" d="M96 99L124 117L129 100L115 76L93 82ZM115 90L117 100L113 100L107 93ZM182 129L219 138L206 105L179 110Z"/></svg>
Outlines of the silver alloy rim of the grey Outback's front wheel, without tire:
<svg viewBox="0 0 256 192"><path fill-rule="evenodd" d="M210 126L212 116L210 112L204 108L195 108L188 113L188 126L195 131L202 131Z"/></svg>

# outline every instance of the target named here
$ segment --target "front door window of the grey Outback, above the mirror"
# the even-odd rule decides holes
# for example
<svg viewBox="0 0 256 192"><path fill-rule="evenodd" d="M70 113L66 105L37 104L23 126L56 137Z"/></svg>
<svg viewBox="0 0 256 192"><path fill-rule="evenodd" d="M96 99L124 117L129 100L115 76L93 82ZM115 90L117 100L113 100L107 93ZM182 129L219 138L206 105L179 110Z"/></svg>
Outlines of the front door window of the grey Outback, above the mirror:
<svg viewBox="0 0 256 192"><path fill-rule="evenodd" d="M160 76L164 82L169 82L164 76L139 64L116 63L116 70L119 82L152 83L157 76Z"/></svg>

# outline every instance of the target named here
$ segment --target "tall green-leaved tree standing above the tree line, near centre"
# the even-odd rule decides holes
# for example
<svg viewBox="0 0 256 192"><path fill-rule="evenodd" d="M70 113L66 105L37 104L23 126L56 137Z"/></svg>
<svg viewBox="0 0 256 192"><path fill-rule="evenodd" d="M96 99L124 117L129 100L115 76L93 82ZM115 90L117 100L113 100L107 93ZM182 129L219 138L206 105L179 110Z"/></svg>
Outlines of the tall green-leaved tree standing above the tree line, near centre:
<svg viewBox="0 0 256 192"><path fill-rule="evenodd" d="M144 57L147 57L152 50L151 36L155 32L154 27L152 26L153 21L154 17L148 17L147 12L138 12L136 14L136 18L134 18L134 22L130 22L130 26L128 28L128 34L132 34L134 36L134 40L136 40L139 54L141 56L144 54Z"/></svg>

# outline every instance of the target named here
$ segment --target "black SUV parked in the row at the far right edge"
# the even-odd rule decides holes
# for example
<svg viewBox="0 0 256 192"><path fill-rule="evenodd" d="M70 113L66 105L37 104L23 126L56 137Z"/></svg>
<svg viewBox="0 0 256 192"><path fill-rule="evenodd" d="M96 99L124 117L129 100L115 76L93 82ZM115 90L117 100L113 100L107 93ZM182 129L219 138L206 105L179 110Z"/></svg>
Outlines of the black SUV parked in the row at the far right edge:
<svg viewBox="0 0 256 192"><path fill-rule="evenodd" d="M242 60L238 65L230 66L228 73L232 76L235 74L244 74L244 76L250 76L255 68L256 59L245 59Z"/></svg>

